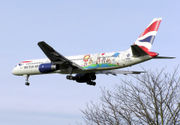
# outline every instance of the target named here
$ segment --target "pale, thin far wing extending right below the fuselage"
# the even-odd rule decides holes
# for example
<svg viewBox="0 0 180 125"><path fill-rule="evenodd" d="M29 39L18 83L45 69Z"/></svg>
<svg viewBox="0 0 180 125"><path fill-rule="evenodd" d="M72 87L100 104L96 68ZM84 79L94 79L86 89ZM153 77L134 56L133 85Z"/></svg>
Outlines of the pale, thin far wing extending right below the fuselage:
<svg viewBox="0 0 180 125"><path fill-rule="evenodd" d="M141 74L146 73L145 71L123 71L123 70L105 70L105 71L97 71L96 74L106 74L106 75L117 75L117 74Z"/></svg>

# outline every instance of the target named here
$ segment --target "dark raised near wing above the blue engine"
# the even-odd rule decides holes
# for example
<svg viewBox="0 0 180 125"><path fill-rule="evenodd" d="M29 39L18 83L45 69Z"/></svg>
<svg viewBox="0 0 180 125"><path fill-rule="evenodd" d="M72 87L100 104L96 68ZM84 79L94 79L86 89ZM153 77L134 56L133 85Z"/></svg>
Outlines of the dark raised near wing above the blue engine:
<svg viewBox="0 0 180 125"><path fill-rule="evenodd" d="M78 70L83 70L81 66L78 64L72 62L71 60L67 59L57 51L55 51L51 46L49 46L47 43L44 41L40 41L38 43L38 46L42 49L44 54L51 60L53 64L58 64L62 68L72 68L72 69L78 69Z"/></svg>

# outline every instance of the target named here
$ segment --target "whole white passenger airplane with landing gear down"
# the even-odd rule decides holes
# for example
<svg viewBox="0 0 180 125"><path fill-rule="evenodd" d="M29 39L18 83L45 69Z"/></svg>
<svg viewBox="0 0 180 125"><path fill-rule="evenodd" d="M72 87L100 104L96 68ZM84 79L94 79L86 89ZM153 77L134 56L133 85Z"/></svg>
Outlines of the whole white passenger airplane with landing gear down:
<svg viewBox="0 0 180 125"><path fill-rule="evenodd" d="M47 59L22 61L13 68L12 73L17 76L25 76L25 85L27 86L30 85L29 76L39 74L67 74L66 78L68 80L95 86L96 74L127 75L145 73L145 71L123 71L118 69L150 59L175 58L159 56L158 53L150 51L161 21L161 18L154 18L126 51L65 57L46 42L40 41L38 46L47 56ZM75 75L73 76L73 74Z"/></svg>

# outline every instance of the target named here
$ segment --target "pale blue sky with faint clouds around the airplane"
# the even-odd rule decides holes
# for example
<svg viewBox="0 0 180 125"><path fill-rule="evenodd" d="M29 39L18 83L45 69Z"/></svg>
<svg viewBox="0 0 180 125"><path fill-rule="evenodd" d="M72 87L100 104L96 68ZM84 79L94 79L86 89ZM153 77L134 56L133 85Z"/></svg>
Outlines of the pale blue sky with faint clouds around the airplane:
<svg viewBox="0 0 180 125"><path fill-rule="evenodd" d="M22 60L45 58L44 40L65 56L125 50L155 17L162 17L152 51L176 56L126 69L173 70L179 64L179 0L1 0L0 124L74 125L80 109L98 101L100 88L113 89L129 76L97 76L97 86L78 84L65 75L24 77L11 74Z"/></svg>

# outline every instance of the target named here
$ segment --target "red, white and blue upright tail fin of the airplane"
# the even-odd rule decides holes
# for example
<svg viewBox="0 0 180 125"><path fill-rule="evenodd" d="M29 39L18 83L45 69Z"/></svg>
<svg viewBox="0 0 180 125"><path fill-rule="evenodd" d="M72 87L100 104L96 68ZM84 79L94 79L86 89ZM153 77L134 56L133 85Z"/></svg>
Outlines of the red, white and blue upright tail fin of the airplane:
<svg viewBox="0 0 180 125"><path fill-rule="evenodd" d="M137 38L134 44L146 50L151 49L151 46L157 34L161 20L162 20L161 18L154 18L152 22L144 30L144 32Z"/></svg>

